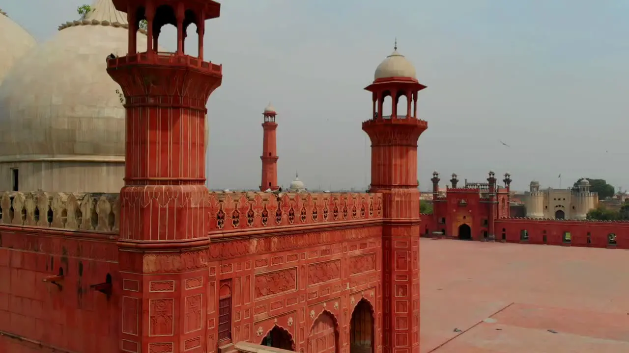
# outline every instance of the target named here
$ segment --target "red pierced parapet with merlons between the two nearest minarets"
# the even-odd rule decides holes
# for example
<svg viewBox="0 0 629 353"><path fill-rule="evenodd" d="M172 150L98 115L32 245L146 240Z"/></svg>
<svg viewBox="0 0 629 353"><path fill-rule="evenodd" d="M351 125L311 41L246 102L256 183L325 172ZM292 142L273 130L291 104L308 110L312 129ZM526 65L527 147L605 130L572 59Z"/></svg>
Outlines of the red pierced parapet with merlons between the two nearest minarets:
<svg viewBox="0 0 629 353"><path fill-rule="evenodd" d="M213 192L210 232L382 219L379 193Z"/></svg>

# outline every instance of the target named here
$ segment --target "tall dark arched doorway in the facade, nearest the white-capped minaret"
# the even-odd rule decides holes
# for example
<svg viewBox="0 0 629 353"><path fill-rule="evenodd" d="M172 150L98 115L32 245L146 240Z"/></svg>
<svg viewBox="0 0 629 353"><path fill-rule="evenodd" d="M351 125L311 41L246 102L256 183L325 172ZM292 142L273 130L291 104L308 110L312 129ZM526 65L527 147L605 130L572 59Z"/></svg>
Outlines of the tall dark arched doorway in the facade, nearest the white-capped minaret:
<svg viewBox="0 0 629 353"><path fill-rule="evenodd" d="M352 312L350 353L374 353L374 315L369 301L362 298Z"/></svg>

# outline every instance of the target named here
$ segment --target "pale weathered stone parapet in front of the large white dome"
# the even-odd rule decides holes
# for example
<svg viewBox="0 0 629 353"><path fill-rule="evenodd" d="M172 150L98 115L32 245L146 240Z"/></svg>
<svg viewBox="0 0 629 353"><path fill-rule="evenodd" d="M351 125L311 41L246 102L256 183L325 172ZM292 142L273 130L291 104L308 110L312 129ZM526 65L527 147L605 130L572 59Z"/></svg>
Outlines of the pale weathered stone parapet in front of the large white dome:
<svg viewBox="0 0 629 353"><path fill-rule="evenodd" d="M118 233L118 193L0 192L0 224Z"/></svg>

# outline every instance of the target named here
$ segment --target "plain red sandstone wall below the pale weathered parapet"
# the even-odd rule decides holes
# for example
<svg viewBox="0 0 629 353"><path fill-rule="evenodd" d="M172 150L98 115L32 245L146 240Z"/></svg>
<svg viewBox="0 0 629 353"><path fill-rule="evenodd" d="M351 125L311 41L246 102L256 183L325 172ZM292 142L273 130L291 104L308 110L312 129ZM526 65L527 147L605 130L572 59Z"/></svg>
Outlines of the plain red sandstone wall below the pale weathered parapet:
<svg viewBox="0 0 629 353"><path fill-rule="evenodd" d="M43 282L59 268L62 289ZM111 234L0 225L0 352L117 352L118 298L90 288L108 273L115 288Z"/></svg>

